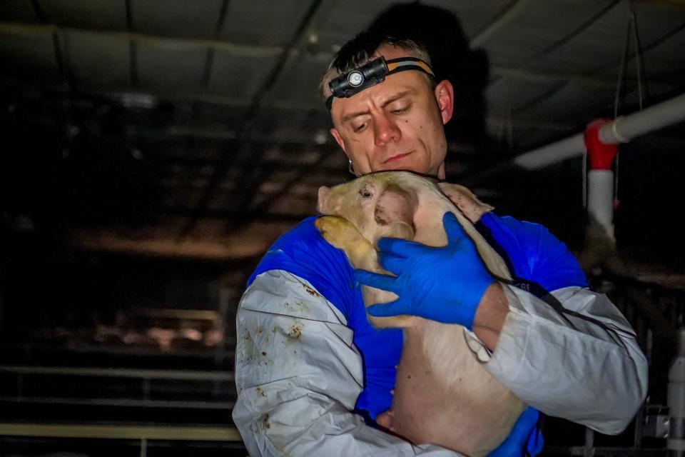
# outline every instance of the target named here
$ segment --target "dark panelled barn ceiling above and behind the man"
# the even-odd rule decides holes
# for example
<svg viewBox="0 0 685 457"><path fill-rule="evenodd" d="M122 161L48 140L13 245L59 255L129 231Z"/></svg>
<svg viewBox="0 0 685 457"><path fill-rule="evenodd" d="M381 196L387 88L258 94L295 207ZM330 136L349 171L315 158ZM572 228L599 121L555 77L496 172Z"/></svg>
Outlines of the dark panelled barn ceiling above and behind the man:
<svg viewBox="0 0 685 457"><path fill-rule="evenodd" d="M457 14L472 48L489 56L487 139L475 149L450 143L450 181L573 243L582 160L537 172L502 164L613 116L626 42L619 114L639 108L638 89L645 105L681 94L685 2L421 3ZM258 257L313 213L318 186L349 179L315 88L339 46L390 4L0 2L5 229L93 253ZM671 149L681 148L682 127L665 131Z"/></svg>

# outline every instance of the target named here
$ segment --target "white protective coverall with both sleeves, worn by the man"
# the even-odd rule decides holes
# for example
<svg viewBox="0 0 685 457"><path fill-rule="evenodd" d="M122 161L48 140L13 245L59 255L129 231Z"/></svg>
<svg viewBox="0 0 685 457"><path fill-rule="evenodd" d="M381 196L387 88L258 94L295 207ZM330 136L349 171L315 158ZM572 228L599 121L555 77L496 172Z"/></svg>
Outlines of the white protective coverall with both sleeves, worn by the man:
<svg viewBox="0 0 685 457"><path fill-rule="evenodd" d="M552 292L577 313L560 316L502 286L509 313L494 353L465 330L485 368L542 413L622 431L646 395L647 363L619 310L573 286ZM260 273L240 301L237 329L233 419L250 456L459 455L413 446L350 412L365 385L362 356L343 313L305 279Z"/></svg>

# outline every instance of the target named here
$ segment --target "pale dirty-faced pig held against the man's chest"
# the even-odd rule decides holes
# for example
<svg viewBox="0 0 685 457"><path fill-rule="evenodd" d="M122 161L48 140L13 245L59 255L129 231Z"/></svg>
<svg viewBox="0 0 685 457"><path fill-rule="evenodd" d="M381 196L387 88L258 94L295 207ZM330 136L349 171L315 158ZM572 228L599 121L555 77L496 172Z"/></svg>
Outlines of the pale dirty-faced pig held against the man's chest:
<svg viewBox="0 0 685 457"><path fill-rule="evenodd" d="M442 217L450 211L492 276L507 282L506 264L471 223L491 209L463 186L408 171L382 171L321 187L318 211L324 216L315 226L354 268L390 274L377 261L378 239L445 246ZM362 294L365 306L397 298L367 286ZM412 443L434 443L467 456L485 456L504 441L525 405L485 370L467 346L462 326L417 316L367 317L377 328L402 328L404 337L392 406L377 418L381 426Z"/></svg>

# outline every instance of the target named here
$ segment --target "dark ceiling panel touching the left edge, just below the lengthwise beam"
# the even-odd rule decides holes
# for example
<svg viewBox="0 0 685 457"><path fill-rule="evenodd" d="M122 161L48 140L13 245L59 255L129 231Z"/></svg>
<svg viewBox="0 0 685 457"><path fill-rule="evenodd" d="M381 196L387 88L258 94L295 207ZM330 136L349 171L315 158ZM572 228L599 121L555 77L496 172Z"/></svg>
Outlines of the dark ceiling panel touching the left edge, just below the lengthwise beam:
<svg viewBox="0 0 685 457"><path fill-rule="evenodd" d="M62 81L52 36L0 34L0 73L22 81Z"/></svg>

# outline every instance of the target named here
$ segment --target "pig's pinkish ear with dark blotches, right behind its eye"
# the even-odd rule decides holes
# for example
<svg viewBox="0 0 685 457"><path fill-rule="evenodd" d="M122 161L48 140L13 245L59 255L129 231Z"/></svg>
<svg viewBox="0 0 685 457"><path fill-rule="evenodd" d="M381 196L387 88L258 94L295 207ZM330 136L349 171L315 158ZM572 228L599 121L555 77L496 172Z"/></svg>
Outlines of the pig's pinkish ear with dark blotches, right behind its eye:
<svg viewBox="0 0 685 457"><path fill-rule="evenodd" d="M414 213L417 197L413 191L397 187L385 189L376 201L374 219L377 224L377 236L392 238L414 238Z"/></svg>

